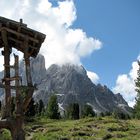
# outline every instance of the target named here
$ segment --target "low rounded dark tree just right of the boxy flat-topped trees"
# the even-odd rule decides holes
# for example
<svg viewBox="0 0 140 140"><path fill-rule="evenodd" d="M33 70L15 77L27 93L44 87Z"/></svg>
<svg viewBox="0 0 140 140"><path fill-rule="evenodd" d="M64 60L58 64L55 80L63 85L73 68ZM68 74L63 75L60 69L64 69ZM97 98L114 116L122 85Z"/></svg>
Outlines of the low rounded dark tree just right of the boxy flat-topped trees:
<svg viewBox="0 0 140 140"><path fill-rule="evenodd" d="M84 105L83 110L82 110L82 117L94 117L96 114L93 111L92 107L90 105Z"/></svg>

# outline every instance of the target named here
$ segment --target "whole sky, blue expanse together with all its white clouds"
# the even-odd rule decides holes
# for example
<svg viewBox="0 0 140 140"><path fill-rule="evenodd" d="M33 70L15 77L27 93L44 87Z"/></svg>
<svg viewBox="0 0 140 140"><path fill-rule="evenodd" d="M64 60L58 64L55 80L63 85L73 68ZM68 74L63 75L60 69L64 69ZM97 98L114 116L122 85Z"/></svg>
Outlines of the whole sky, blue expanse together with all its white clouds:
<svg viewBox="0 0 140 140"><path fill-rule="evenodd" d="M139 7L140 0L1 0L0 16L22 18L28 27L46 34L40 50L46 68L82 64L94 83L121 93L133 106L140 59Z"/></svg>

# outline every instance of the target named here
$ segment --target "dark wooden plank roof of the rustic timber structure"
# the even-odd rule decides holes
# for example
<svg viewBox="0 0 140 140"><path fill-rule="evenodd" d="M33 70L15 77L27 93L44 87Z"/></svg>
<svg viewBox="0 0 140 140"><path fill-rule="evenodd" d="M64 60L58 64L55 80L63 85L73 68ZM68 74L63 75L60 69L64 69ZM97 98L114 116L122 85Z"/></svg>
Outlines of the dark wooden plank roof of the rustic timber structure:
<svg viewBox="0 0 140 140"><path fill-rule="evenodd" d="M8 46L16 48L28 56L36 57L41 44L44 42L46 35L38 31L32 30L26 24L0 17L0 48L4 46L2 39L2 31L6 31Z"/></svg>

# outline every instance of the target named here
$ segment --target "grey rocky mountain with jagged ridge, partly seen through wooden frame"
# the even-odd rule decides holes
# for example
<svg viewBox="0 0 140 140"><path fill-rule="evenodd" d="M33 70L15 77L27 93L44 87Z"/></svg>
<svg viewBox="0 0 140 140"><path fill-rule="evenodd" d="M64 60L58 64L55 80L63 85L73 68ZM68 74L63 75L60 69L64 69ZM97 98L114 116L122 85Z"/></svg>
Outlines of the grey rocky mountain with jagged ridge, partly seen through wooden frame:
<svg viewBox="0 0 140 140"><path fill-rule="evenodd" d="M22 61L20 75L23 84L24 69ZM34 93L36 101L42 99L47 104L50 95L55 93L61 109L65 109L70 103L78 102L80 105L91 105L96 112L113 111L115 108L120 108L126 113L131 110L120 94L113 94L106 86L92 83L83 66L54 64L46 70L44 57L38 55L36 59L31 59L31 71L33 82L37 85Z"/></svg>

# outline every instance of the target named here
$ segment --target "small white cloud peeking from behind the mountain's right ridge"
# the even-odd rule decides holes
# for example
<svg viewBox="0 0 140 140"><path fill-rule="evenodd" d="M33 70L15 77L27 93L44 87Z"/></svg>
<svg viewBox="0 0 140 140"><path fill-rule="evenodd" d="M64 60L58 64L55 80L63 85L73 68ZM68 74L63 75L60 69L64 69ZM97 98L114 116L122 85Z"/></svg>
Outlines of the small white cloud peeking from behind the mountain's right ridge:
<svg viewBox="0 0 140 140"><path fill-rule="evenodd" d="M87 71L87 75L94 84L99 82L99 76L96 73Z"/></svg>

